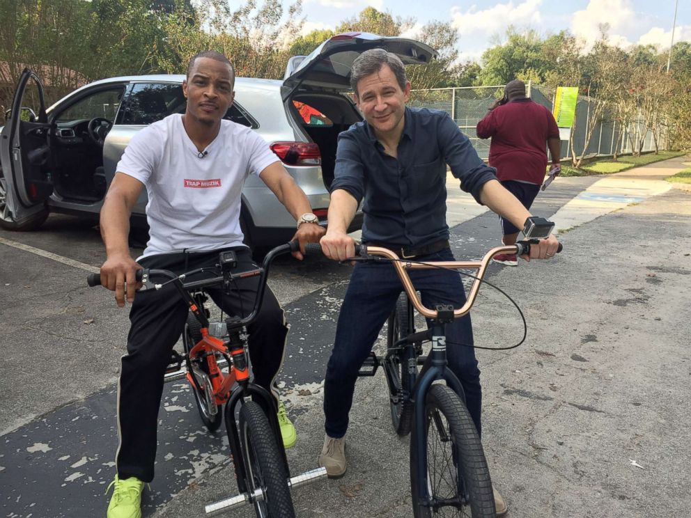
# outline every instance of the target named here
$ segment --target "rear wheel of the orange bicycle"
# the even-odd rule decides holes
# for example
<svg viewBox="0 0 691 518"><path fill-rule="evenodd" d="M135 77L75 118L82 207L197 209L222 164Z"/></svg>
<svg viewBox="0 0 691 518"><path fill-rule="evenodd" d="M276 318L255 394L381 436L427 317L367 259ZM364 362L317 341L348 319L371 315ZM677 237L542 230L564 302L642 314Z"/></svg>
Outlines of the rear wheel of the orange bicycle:
<svg viewBox="0 0 691 518"><path fill-rule="evenodd" d="M189 352L192 347L201 340L201 324L199 320L192 313L187 313L187 323L185 323L185 331L183 332L183 347L187 356L187 372L192 375L194 383L192 383L192 393L194 393L194 401L196 408L199 410L199 417L201 422L209 430L215 432L223 422L223 407L216 405L215 395L212 391L211 382L209 379L208 363L205 359L197 361L189 357ZM216 411L213 411L213 410Z"/></svg>

